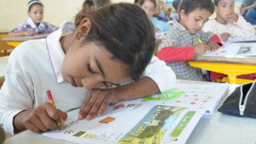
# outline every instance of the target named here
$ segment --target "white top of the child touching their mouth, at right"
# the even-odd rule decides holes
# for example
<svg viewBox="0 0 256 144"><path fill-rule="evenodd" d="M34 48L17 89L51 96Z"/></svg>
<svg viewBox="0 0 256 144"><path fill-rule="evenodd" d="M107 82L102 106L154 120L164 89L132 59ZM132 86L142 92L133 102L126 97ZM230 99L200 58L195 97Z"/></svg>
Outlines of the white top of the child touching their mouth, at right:
<svg viewBox="0 0 256 144"><path fill-rule="evenodd" d="M221 24L215 19L209 20L203 26L203 31L211 31L221 38L222 33L229 33L230 37L252 37L255 36L254 27L246 22L244 18L238 15L238 22L228 21L226 24Z"/></svg>

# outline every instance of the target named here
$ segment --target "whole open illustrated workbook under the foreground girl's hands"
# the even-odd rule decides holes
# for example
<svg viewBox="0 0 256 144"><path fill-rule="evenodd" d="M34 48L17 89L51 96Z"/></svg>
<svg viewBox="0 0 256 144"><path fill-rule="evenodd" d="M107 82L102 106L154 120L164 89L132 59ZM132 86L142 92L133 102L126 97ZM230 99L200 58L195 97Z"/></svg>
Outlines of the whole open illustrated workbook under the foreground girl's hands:
<svg viewBox="0 0 256 144"><path fill-rule="evenodd" d="M43 135L75 143L185 143L228 84L182 84L163 94L110 105L102 117L65 122Z"/></svg>

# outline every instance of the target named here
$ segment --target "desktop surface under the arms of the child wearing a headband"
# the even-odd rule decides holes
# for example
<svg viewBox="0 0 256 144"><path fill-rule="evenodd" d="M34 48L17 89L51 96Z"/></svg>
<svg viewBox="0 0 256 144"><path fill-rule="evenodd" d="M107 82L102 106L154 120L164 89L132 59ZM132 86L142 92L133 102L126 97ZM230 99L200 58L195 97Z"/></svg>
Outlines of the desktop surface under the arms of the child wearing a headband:
<svg viewBox="0 0 256 144"><path fill-rule="evenodd" d="M49 35L47 34L38 34L38 35L33 35L33 36L22 36L22 37L3 37L1 40L2 41L28 41L32 39L42 39L45 38Z"/></svg>

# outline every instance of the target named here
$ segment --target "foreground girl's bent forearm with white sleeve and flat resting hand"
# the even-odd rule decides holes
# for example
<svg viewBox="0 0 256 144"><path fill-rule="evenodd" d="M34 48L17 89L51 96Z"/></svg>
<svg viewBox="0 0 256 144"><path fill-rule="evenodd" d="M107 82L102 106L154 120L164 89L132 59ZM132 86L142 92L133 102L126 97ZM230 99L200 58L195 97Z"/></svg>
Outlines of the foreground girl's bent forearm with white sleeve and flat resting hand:
<svg viewBox="0 0 256 144"><path fill-rule="evenodd" d="M119 101L151 96L173 88L175 82L176 76L171 67L153 56L139 81L117 88L89 90L78 118L91 120L95 115L100 117L110 103L117 104Z"/></svg>

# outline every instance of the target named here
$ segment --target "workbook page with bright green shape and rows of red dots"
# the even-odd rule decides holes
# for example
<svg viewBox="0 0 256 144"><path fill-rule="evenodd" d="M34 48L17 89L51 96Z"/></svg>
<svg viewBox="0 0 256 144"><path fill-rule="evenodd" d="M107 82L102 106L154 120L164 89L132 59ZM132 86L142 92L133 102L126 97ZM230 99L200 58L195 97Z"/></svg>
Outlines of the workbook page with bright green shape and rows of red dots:
<svg viewBox="0 0 256 144"><path fill-rule="evenodd" d="M198 108L205 110L205 114L211 115L220 99L226 94L227 90L228 83L177 83L175 88L169 90L168 92L163 92L163 94L156 94L154 96L135 99L127 102Z"/></svg>

